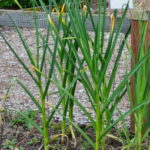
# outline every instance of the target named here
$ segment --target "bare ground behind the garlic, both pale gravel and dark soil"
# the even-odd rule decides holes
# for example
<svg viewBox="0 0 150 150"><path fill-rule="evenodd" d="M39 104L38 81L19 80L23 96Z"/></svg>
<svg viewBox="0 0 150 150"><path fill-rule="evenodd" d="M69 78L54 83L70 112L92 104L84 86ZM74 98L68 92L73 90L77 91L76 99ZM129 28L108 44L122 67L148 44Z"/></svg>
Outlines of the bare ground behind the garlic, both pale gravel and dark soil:
<svg viewBox="0 0 150 150"><path fill-rule="evenodd" d="M31 47L31 49L34 51L35 49L35 30L29 29L29 28L20 28L21 32L24 34L27 43ZM24 48L18 38L17 32L14 28L10 27L1 27L0 32L6 37L6 39L11 43L11 46L16 50L17 54L22 58L24 62L30 67L29 60L25 54ZM45 29L40 29L40 32L44 35L46 33ZM94 37L94 33L89 33L91 37ZM120 45L120 39L122 38L123 34L120 35L120 38L118 40L118 44L116 46L116 51L113 54L112 60L110 62L110 66L108 69L108 77L110 75L110 72L112 70L113 63L115 61L115 58L118 53L118 47ZM105 33L105 47L107 46L109 33ZM130 37L128 39L128 42L130 43ZM54 41L50 37L49 44L53 47ZM126 69L130 68L130 56L128 53L127 48L124 49L121 61L119 62L119 69L117 72L117 76L115 78L115 83L113 86L113 90L117 87L117 85L120 83L120 81L124 78ZM45 65L45 73L48 71L48 66ZM57 73L57 72L56 72ZM30 77L27 75L27 73L23 70L21 65L18 63L16 58L13 56L9 48L6 46L4 40L0 37L0 110L5 108L6 112L9 112L10 114L6 114L6 116L3 116L3 120L5 120L3 126L1 126L0 130L0 147L2 146L2 150L7 149L14 149L18 148L19 150L32 150L32 149L43 149L42 145L42 137L37 133L37 131L34 128L29 128L27 126L27 122L23 120L21 123L16 123L16 120L18 120L18 117L14 117L11 114L11 110L17 109L20 111L26 111L26 110L36 110L35 105L30 100L30 98L27 96L27 94L23 91L23 89L17 85L16 83L13 84L13 86L10 89L9 95L7 97L7 100L4 102L3 97L9 87L9 83L13 77L20 79L35 95L38 97L38 89L36 85L32 82ZM44 82L44 80L43 80ZM57 88L54 85L50 86L49 92L56 91ZM85 108L93 114L92 108L90 103L88 102L88 97L82 87L81 84L77 84L77 91L75 93L75 97L85 106ZM48 101L55 105L56 102L59 99L58 95L51 95L48 96ZM128 97L124 96L120 104L118 105L118 109L124 113L129 109L129 101ZM61 107L60 107L61 109ZM93 136L93 129L88 128L86 124L88 123L87 118L85 117L84 113L81 112L81 110L75 106L74 116L75 121L77 124L81 125L81 128L83 128L85 131L87 131L88 135ZM94 115L93 115L94 116ZM114 113L113 118L117 119L119 116L118 110ZM37 119L37 118L34 118ZM55 134L60 133L60 123L59 120L61 119L61 116L59 114L56 114L54 117L54 124L50 128L50 136L53 136ZM14 121L13 121L14 120ZM37 119L38 120L38 119ZM15 123L14 123L15 122ZM129 117L126 118L126 124L129 126L130 120ZM57 128L58 127L58 128ZM119 128L119 125L117 126ZM116 129L113 134L116 134ZM69 136L69 133L68 133ZM74 145L72 143L72 140L69 138L69 143L65 143L63 145L63 148L65 149L66 144L68 144L68 148L70 150L91 150L90 146L87 144L87 142L83 139L83 137L76 132L77 136L77 144L81 145L74 148ZM94 137L93 137L94 138ZM3 140L2 140L3 139ZM3 142L3 143L2 143ZM148 142L144 144L146 147L148 146ZM60 139L54 140L51 143L52 149L63 149L62 145L60 144ZM108 148L107 150L119 150L121 149L121 144L113 141L108 140ZM18 149L15 149L18 150Z"/></svg>

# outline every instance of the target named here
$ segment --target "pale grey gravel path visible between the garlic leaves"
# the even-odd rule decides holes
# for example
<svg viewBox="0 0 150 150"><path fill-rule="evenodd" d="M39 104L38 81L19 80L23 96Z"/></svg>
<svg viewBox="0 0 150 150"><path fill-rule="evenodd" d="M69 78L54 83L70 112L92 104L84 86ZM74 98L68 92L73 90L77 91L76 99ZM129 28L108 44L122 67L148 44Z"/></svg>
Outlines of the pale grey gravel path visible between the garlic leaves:
<svg viewBox="0 0 150 150"><path fill-rule="evenodd" d="M28 29L28 28L23 28L21 29L23 32L25 38L27 39L28 44L32 48L33 51L35 51L35 30L34 29ZM45 29L40 29L42 34L45 34ZM2 32L7 40L11 43L12 47L14 47L19 54L19 56L26 62L26 64L29 65L29 61L26 57L26 54L24 52L23 46L18 38L18 35L14 28L0 28L0 32ZM93 33L90 33L91 36L94 37ZM109 33L106 33L105 40L107 43L109 37ZM120 35L120 38L122 35ZM119 40L120 41L120 40ZM118 41L118 46L119 46L119 41ZM50 38L50 44L53 46L53 40ZM130 41L129 41L130 42ZM105 45L106 46L106 45ZM116 47L116 52L113 54L113 58L111 60L110 68L108 70L108 76L109 73L112 69L113 62L115 61L115 58L117 56L117 50L118 46ZM118 85L118 83L121 81L121 79L125 75L125 70L126 70L126 62L130 64L130 58L128 58L128 51L127 49L124 49L124 52L122 54L121 61L119 63L119 70L116 76L116 80L114 83L114 88ZM129 65L130 66L130 65ZM3 96L4 93L6 92L10 80L16 77L20 80L22 80L25 85L32 91L32 93L38 97L38 92L37 92L37 87L36 85L32 82L30 77L24 72L23 68L20 66L16 58L13 56L13 54L10 52L9 48L6 46L5 42L3 39L0 37L0 105L3 103ZM44 81L43 81L44 82ZM57 88L54 85L50 86L50 91L56 91ZM77 86L77 91L75 93L75 96L78 98L78 100L84 104L84 106L87 108L88 111L91 111L91 105L90 103L87 102L87 96L85 94L84 89L80 84ZM48 97L48 100L50 103L55 104L56 101L58 100L58 95L52 95ZM27 96L27 94L22 90L22 88L14 84L13 87L10 90L10 93L8 95L7 101L5 102L5 106L7 109L20 109L24 110L27 108L32 108L36 109L34 106L33 102L30 100L30 98ZM126 112L129 109L129 102L127 96L123 98L121 103L119 104L119 109L121 112ZM75 120L78 123L85 123L87 122L86 117L84 114L79 110L77 106L75 106ZM56 117L58 116L57 114L55 115ZM118 117L118 112L114 114L114 119ZM127 121L129 123L129 117L127 118Z"/></svg>

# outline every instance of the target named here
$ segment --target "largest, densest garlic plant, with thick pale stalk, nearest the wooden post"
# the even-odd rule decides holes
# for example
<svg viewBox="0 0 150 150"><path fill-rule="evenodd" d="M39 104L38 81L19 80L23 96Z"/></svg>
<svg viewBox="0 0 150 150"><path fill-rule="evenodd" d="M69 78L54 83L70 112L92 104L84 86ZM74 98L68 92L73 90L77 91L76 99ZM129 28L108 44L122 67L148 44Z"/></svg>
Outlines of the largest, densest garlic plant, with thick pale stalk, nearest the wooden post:
<svg viewBox="0 0 150 150"><path fill-rule="evenodd" d="M122 100L123 95L126 93L126 82L128 79L140 68L140 66L144 63L145 60L148 59L149 53L137 64L120 82L118 87L111 92L112 85L116 76L116 72L118 69L118 63L121 58L121 54L123 48L125 46L126 40L130 33L130 28L125 34L124 38L121 41L118 56L114 63L112 73L110 75L109 81L107 81L106 73L108 66L110 64L112 54L115 51L115 47L117 41L119 39L119 34L123 25L123 21L126 16L126 12L128 10L128 5L124 10L124 13L119 21L119 25L117 29L115 29L115 19L117 17L117 11L114 12L112 25L111 25L111 33L109 37L109 41L107 43L106 53L104 52L104 39L105 39L105 23L106 23L106 1L104 8L102 8L102 1L98 0L98 21L94 22L94 16L90 10L90 4L86 1L87 9L86 11L81 11L80 1L65 1L66 7L66 16L69 18L68 24L63 24L63 30L66 30L71 37L73 37L81 50L83 58L79 56L78 51L76 50L75 45L71 40L67 40L66 43L68 45L71 44L71 50L76 59L76 63L74 63L74 67L80 77L79 81L82 83L85 91L89 95L89 101L95 112L96 119L94 119L87 111L84 106L77 101L77 99L73 98L73 95L68 91L65 91L64 88L61 88L65 93L73 99L73 101L81 108L81 110L87 115L91 125L93 126L96 134L95 142L90 139L86 133L84 133L79 127L77 127L74 123L72 123L88 140L88 142L93 146L95 150L105 149L106 144L106 136L109 133L109 130L116 125L122 117L130 114L130 112L138 109L141 105L145 105L148 102L141 103L135 107L133 107L126 114L121 116L116 122L111 124L111 118L113 116L113 112L117 107L118 103ZM90 21L93 27L93 31L95 34L95 38L92 39L86 29L86 21ZM50 24L52 22L50 21ZM54 29L55 34L57 34ZM68 35L68 36L69 36ZM71 41L71 42L70 42ZM66 53L66 51L64 51ZM66 53L66 55L68 55ZM73 58L70 57L70 61L73 62ZM85 68L86 66L86 68ZM82 70L82 71L81 71ZM87 74L87 71L90 75ZM59 87L60 88L60 87ZM72 122L72 120L70 120Z"/></svg>

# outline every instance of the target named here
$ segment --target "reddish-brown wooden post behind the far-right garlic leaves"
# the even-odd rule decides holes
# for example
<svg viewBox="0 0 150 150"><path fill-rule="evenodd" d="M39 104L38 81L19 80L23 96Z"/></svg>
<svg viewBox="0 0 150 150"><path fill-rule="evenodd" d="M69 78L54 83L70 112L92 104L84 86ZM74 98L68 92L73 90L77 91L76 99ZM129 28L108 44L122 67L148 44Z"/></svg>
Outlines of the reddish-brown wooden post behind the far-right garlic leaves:
<svg viewBox="0 0 150 150"><path fill-rule="evenodd" d="M145 49L148 48L150 45L150 21L143 21L144 23L148 23L147 26L147 33L146 33L146 38L145 38ZM140 43L140 31L139 31L139 22L138 20L132 20L132 28L131 28L131 45L132 45L132 50L135 55L135 61L137 61L137 56L138 56L138 49L139 49L139 43ZM134 66L133 61L131 60L131 67ZM131 93L132 93L132 99L133 99L133 104L134 102L134 78L131 78ZM150 109L149 109L150 110ZM135 131L135 124L134 124L134 119L133 115L131 114L131 131Z"/></svg>

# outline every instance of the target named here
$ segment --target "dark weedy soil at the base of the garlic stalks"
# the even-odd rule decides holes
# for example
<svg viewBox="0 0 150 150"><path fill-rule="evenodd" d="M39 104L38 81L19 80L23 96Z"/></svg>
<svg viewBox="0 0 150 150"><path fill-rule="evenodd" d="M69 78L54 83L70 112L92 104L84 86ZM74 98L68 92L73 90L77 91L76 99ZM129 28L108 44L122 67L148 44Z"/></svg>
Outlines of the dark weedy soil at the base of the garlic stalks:
<svg viewBox="0 0 150 150"><path fill-rule="evenodd" d="M41 124L39 117L32 117L34 117L35 122ZM3 113L2 120L3 123L0 124L0 150L43 150L42 136L22 117L17 114L12 116L12 114ZM79 126L90 138L95 139L93 128L90 125ZM77 144L75 145L69 131L67 131L67 135L64 137L66 140L62 144L60 129L60 121L57 118L53 119L49 127L50 150L92 150L84 137L75 129ZM117 135L115 129L112 133ZM59 136L56 138L57 135ZM148 145L148 143L145 144L145 150L147 150ZM121 150L121 148L122 144L120 142L107 139L106 150Z"/></svg>

